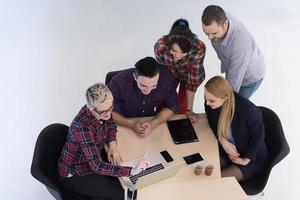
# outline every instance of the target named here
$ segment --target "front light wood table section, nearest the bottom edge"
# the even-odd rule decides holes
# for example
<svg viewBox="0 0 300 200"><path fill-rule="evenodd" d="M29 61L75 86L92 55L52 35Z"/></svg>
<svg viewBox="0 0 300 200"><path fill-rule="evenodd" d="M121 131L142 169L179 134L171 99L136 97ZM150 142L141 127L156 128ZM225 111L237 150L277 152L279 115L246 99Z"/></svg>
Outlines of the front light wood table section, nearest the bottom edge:
<svg viewBox="0 0 300 200"><path fill-rule="evenodd" d="M234 177L183 182L159 182L138 191L138 200L246 200L247 195Z"/></svg>

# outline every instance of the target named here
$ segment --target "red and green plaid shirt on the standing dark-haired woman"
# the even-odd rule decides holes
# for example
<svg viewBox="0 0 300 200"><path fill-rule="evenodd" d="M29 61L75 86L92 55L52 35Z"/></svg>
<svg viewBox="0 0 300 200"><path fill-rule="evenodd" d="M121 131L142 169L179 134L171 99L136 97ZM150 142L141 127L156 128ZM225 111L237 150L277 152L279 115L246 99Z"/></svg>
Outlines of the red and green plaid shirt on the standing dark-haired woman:
<svg viewBox="0 0 300 200"><path fill-rule="evenodd" d="M195 36L188 55L176 62L166 45L172 37L175 36L164 36L156 42L154 46L156 59L172 71L177 81L185 83L188 90L195 92L205 79L203 67L205 44Z"/></svg>

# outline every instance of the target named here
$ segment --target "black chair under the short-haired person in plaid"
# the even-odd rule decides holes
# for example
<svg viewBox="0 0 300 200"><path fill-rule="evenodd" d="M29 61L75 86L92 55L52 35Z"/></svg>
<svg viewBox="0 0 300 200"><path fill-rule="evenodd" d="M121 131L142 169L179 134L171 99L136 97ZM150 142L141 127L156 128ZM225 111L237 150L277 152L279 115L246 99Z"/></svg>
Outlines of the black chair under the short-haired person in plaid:
<svg viewBox="0 0 300 200"><path fill-rule="evenodd" d="M35 144L31 174L57 200L88 200L87 196L67 189L58 180L57 161L66 142L68 130L69 127L63 124L51 124L42 130Z"/></svg>

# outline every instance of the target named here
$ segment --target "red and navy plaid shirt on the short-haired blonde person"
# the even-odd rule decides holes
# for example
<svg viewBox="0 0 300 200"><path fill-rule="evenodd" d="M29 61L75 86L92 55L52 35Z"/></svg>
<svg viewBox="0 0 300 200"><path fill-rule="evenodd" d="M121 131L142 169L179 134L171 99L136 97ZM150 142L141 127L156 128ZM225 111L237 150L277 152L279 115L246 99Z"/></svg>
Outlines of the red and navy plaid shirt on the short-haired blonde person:
<svg viewBox="0 0 300 200"><path fill-rule="evenodd" d="M101 158L104 144L116 140L116 132L112 119L98 121L87 106L83 106L69 128L67 142L58 161L60 176L93 173L107 176L130 175L131 167L113 165Z"/></svg>

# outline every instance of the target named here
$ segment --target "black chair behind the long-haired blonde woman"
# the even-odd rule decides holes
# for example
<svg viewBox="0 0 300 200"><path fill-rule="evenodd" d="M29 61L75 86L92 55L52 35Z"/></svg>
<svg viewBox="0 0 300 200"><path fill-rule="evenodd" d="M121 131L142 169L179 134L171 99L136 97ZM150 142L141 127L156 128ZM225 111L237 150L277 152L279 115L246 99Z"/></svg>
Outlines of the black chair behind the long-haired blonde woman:
<svg viewBox="0 0 300 200"><path fill-rule="evenodd" d="M240 182L248 195L257 195L265 188L272 168L290 152L280 119L272 110L259 107L265 125L265 142L269 151L269 162L265 169L250 180ZM263 193L262 193L263 195Z"/></svg>

